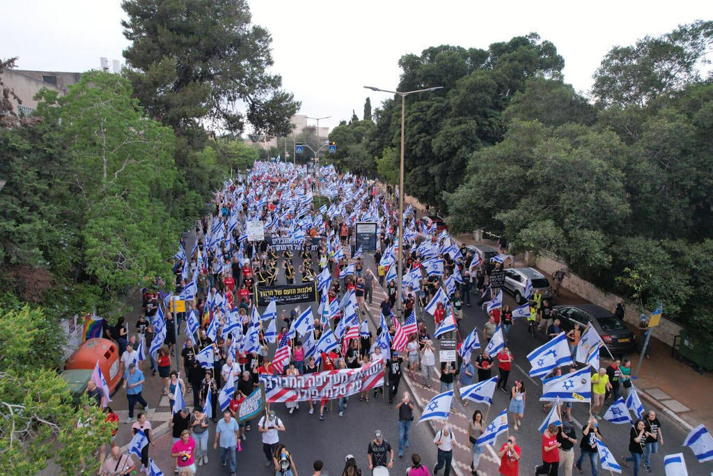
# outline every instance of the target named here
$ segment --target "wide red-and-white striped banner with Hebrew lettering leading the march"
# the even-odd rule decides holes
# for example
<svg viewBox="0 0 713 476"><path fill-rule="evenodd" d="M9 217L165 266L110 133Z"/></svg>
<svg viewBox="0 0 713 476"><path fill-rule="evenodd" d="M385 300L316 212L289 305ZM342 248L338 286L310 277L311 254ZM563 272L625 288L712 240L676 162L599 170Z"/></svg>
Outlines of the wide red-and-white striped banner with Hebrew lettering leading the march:
<svg viewBox="0 0 713 476"><path fill-rule="evenodd" d="M384 362L374 362L364 368L304 375L260 374L260 383L265 385L265 400L269 403L347 397L383 385Z"/></svg>

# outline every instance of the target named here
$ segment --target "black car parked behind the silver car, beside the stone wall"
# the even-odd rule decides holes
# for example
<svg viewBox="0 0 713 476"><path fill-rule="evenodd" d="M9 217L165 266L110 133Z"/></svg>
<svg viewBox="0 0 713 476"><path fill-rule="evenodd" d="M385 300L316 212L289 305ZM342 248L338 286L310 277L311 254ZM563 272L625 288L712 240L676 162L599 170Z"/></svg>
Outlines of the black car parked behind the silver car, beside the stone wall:
<svg viewBox="0 0 713 476"><path fill-rule="evenodd" d="M579 323L582 331L591 323L612 355L635 350L634 333L609 310L595 304L555 305L553 315L569 331Z"/></svg>

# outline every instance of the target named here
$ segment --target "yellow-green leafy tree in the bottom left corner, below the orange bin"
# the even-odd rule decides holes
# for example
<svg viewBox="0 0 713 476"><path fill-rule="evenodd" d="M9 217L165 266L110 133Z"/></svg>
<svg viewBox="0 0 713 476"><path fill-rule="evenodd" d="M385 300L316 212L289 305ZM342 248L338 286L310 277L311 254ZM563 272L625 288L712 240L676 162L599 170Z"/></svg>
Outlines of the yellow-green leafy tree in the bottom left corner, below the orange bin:
<svg viewBox="0 0 713 476"><path fill-rule="evenodd" d="M49 460L63 475L76 474L80 462L96 472L91 455L111 435L103 412L74 405L66 382L47 367L61 359L61 345L46 341L48 332L61 335L57 327L41 309L0 311L0 465L7 475L39 473Z"/></svg>

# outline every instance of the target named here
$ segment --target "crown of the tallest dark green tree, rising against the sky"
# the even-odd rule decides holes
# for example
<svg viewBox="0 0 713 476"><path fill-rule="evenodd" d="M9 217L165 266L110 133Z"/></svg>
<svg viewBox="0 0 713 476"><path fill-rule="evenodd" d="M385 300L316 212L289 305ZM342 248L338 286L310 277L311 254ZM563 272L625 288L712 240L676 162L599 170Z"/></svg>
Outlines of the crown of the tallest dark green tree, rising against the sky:
<svg viewBox="0 0 713 476"><path fill-rule="evenodd" d="M270 74L270 33L251 24L245 0L124 0L124 51L136 96L150 116L183 135L202 119L233 133L289 133L299 109ZM245 113L238 106L245 105Z"/></svg>

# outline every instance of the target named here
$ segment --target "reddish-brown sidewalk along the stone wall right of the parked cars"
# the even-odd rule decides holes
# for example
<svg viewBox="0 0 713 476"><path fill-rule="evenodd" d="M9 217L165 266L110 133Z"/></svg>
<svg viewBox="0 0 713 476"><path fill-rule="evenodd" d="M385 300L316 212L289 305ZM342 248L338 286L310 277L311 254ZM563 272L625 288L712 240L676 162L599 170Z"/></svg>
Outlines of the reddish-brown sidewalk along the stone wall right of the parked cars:
<svg viewBox="0 0 713 476"><path fill-rule="evenodd" d="M408 198L405 201L409 201ZM412 203L414 208L418 208L415 203L415 201ZM421 208L418 211L424 212ZM497 248L496 241L476 241L469 233L453 236L453 240L458 244L491 245ZM515 266L523 266L524 262L523 253L515 255ZM550 283L552 282L551 275L543 270L539 271L550 280ZM564 287L560 289L560 295L553 300L555 305L583 303L589 301ZM713 376L710 373L700 374L684 360L672 358L671 348L656 338L650 340L649 347L651 358L643 361L638 378L635 380L635 386L645 407L653 407L654 410L665 412L686 431L692 430L699 423L712 427ZM632 360L632 374L634 374L640 355L632 353L627 357ZM602 357L602 365L609 363L610 360Z"/></svg>

